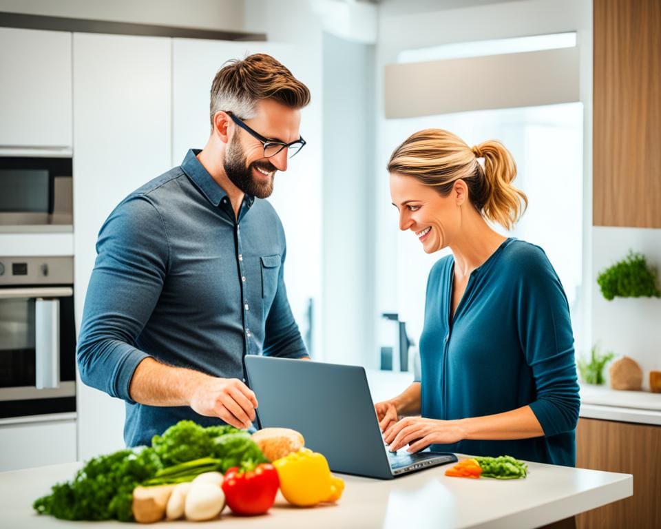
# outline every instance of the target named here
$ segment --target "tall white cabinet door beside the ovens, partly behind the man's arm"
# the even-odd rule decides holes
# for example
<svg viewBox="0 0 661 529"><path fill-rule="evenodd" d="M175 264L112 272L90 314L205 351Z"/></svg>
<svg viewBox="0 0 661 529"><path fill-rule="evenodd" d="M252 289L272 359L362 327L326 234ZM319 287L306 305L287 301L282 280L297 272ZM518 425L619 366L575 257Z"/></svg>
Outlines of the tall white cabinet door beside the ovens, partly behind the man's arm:
<svg viewBox="0 0 661 529"><path fill-rule="evenodd" d="M127 194L170 167L171 41L74 34L76 324L98 230ZM79 384L80 457L124 445L124 403Z"/></svg>

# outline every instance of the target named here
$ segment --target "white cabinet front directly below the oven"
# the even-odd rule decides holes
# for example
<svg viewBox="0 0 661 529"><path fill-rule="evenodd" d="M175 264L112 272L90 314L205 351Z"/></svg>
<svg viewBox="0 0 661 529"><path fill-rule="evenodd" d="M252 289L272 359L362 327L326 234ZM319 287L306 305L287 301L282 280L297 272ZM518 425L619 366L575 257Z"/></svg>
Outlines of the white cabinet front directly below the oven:
<svg viewBox="0 0 661 529"><path fill-rule="evenodd" d="M73 461L75 417L0 425L0 472Z"/></svg>

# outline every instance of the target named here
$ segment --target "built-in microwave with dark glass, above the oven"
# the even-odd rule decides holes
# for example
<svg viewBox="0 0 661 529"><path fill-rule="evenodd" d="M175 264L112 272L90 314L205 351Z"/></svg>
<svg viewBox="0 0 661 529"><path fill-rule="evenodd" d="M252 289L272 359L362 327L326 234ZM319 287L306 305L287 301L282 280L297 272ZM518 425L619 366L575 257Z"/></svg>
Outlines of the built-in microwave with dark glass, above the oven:
<svg viewBox="0 0 661 529"><path fill-rule="evenodd" d="M72 158L0 156L0 231L72 231Z"/></svg>

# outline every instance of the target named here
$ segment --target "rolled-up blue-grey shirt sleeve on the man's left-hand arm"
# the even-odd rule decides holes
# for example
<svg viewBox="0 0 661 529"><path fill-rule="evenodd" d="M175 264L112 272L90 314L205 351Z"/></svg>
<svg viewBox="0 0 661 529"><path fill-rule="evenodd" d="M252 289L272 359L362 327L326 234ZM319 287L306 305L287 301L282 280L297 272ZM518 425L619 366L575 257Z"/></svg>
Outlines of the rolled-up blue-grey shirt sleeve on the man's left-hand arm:
<svg viewBox="0 0 661 529"><path fill-rule="evenodd" d="M99 231L96 253L78 369L88 386L134 403L131 379L149 356L135 342L158 301L169 260L165 224L149 198L130 196L116 207Z"/></svg>

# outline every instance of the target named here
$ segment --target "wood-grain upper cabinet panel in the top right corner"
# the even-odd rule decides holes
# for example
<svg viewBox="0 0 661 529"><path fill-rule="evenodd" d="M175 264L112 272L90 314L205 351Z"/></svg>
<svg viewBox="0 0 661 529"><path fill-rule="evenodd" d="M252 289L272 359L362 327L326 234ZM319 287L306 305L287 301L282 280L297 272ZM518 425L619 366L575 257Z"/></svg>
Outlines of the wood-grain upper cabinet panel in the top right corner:
<svg viewBox="0 0 661 529"><path fill-rule="evenodd" d="M661 1L594 0L593 223L661 228Z"/></svg>

